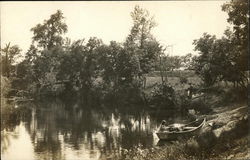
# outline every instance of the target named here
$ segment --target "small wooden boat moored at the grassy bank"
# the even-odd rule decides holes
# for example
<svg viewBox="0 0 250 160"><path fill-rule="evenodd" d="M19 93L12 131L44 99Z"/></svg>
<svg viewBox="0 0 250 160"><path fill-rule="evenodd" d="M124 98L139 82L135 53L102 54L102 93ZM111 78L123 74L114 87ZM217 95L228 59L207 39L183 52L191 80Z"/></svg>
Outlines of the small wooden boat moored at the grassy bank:
<svg viewBox="0 0 250 160"><path fill-rule="evenodd" d="M199 134L205 123L206 118L188 124L171 124L166 126L164 130L160 126L156 135L160 140L177 140L179 138L195 136Z"/></svg>

